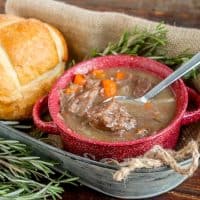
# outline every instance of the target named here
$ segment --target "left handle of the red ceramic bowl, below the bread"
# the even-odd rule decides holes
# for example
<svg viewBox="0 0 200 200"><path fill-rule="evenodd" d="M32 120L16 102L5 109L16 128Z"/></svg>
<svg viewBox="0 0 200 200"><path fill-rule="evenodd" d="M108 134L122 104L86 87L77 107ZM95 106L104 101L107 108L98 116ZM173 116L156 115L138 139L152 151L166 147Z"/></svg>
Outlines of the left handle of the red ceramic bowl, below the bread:
<svg viewBox="0 0 200 200"><path fill-rule="evenodd" d="M48 107L48 96L44 96L40 100L38 100L33 107L33 121L41 131L58 135L59 134L58 127L53 121L45 122L41 119L41 113L44 109L47 109L47 107Z"/></svg>

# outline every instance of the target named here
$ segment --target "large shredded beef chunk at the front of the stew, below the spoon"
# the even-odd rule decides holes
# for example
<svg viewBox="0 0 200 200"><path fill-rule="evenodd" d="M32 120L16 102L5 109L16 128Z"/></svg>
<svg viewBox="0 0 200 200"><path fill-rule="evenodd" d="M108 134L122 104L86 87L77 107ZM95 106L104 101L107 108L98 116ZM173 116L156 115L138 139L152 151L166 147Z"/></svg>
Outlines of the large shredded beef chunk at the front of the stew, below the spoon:
<svg viewBox="0 0 200 200"><path fill-rule="evenodd" d="M136 119L114 100L92 107L87 117L91 126L101 130L127 132L136 127Z"/></svg>

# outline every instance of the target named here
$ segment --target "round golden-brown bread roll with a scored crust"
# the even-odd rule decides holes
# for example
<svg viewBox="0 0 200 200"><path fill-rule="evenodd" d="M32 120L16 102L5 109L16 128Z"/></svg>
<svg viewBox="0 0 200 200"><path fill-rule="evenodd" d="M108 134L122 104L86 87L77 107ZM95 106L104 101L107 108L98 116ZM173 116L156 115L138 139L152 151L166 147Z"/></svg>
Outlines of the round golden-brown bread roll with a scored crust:
<svg viewBox="0 0 200 200"><path fill-rule="evenodd" d="M48 93L67 59L65 40L56 28L0 15L0 119L30 118L34 103Z"/></svg>

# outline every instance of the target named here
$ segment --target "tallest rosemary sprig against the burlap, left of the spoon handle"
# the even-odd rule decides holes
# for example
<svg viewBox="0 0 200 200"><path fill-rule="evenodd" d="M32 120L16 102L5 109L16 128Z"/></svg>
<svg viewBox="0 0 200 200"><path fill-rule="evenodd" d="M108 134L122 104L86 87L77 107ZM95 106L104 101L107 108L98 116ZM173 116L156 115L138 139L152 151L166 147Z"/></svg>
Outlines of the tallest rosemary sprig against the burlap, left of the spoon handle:
<svg viewBox="0 0 200 200"><path fill-rule="evenodd" d="M167 30L161 23L158 24L152 32L148 30L140 30L135 27L133 31L126 31L118 42L109 43L102 51L93 51L92 57L104 56L109 54L130 54L153 56L158 55L158 51L162 46L167 44Z"/></svg>

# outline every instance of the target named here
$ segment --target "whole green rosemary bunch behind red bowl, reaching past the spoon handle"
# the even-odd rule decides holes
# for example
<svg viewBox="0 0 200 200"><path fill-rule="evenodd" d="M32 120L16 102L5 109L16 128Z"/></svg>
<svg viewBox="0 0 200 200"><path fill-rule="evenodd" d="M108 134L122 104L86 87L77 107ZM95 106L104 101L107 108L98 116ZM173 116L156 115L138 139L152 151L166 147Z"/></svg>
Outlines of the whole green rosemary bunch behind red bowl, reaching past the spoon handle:
<svg viewBox="0 0 200 200"><path fill-rule="evenodd" d="M141 30L136 27L132 31L123 33L119 41L109 43L103 51L93 50L90 57L111 54L138 55L160 61L175 69L193 56L184 50L177 56L169 57L165 50L167 44L167 29L163 23L158 24L153 31ZM195 78L197 73L199 70L194 70L185 78Z"/></svg>

